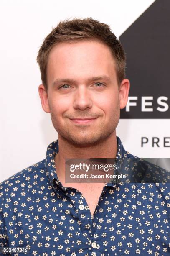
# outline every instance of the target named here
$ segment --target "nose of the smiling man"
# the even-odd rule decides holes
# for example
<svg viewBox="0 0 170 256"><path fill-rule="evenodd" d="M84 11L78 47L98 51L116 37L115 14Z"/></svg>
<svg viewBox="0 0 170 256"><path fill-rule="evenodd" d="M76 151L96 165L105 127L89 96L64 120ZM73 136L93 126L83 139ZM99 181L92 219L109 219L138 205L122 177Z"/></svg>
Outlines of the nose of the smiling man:
<svg viewBox="0 0 170 256"><path fill-rule="evenodd" d="M79 108L80 110L92 107L91 95L90 92L88 92L88 88L85 86L77 88L74 95L73 107Z"/></svg>

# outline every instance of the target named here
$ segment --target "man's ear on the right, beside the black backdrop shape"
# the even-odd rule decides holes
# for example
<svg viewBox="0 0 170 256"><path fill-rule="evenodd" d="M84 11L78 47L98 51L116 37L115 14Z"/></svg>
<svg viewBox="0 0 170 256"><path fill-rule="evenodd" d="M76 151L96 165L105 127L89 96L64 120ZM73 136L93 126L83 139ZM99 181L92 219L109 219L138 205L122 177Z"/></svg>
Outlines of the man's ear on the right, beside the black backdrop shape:
<svg viewBox="0 0 170 256"><path fill-rule="evenodd" d="M119 86L119 104L120 109L125 108L127 105L128 95L130 89L130 82L128 79L123 79Z"/></svg>

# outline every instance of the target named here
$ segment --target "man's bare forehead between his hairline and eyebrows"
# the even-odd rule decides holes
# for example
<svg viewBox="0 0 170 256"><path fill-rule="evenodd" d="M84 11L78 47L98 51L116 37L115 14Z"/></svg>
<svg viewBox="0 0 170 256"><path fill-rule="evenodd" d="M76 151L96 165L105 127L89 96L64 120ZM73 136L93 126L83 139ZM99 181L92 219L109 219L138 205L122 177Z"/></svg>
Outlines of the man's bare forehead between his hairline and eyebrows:
<svg viewBox="0 0 170 256"><path fill-rule="evenodd" d="M109 47L99 41L62 42L48 56L47 77L79 78L107 75L115 72L115 61Z"/></svg>

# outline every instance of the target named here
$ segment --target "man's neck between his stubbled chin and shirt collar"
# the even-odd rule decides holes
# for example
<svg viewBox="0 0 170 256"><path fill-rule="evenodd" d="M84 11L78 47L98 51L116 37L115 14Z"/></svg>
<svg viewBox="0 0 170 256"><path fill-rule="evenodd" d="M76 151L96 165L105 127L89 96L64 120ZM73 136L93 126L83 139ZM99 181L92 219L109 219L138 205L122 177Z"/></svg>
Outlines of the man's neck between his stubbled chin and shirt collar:
<svg viewBox="0 0 170 256"><path fill-rule="evenodd" d="M80 147L66 141L58 134L58 154L55 156L58 179L65 181L65 159L69 158L115 158L117 154L117 139L114 131L107 139L94 146Z"/></svg>

